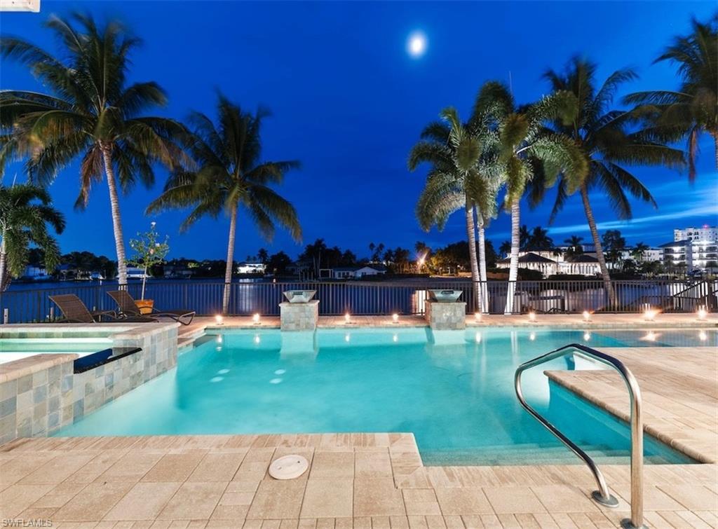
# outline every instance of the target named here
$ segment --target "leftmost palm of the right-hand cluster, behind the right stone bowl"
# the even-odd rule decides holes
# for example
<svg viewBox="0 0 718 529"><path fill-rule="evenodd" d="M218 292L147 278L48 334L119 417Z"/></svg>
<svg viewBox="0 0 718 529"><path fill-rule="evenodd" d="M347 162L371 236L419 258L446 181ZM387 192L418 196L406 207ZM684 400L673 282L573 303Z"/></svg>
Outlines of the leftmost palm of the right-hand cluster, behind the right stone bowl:
<svg viewBox="0 0 718 529"><path fill-rule="evenodd" d="M480 212L490 210L491 192L480 174L482 155L482 128L472 122L462 123L454 108L445 108L440 116L444 123L430 123L421 133L422 140L409 153L409 170L414 171L422 162L432 165L426 185L416 204L416 217L421 228L428 231L432 225L444 228L449 215L463 208L466 219L467 242L471 278L474 285L485 281L485 256L482 256L480 275L476 253L475 207ZM480 248L485 245L479 240ZM485 312L485 296L474 289L475 304Z"/></svg>

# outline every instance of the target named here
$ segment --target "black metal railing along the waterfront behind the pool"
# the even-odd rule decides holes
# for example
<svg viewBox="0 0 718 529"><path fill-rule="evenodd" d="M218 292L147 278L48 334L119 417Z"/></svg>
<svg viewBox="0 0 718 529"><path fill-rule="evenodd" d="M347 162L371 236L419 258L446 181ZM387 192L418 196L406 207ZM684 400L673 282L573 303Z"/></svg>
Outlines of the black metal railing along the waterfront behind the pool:
<svg viewBox="0 0 718 529"><path fill-rule="evenodd" d="M503 314L508 281L406 280L406 281L297 281L240 282L230 286L229 314L278 315L282 293L287 290L316 290L320 314L424 314L428 289L462 291L467 314L480 310L483 299L491 314ZM513 312L530 310L546 313L641 312L651 306L665 312L694 312L701 306L717 308L718 281L675 280L612 281L613 296L599 279L579 281L516 281ZM48 296L77 294L90 309L116 309L106 293L116 284L93 284L10 290L0 294L3 322L42 322L60 317ZM224 284L208 281L149 281L145 297L159 309L193 309L197 314L219 314ZM129 291L139 299L140 284Z"/></svg>

